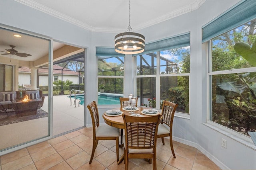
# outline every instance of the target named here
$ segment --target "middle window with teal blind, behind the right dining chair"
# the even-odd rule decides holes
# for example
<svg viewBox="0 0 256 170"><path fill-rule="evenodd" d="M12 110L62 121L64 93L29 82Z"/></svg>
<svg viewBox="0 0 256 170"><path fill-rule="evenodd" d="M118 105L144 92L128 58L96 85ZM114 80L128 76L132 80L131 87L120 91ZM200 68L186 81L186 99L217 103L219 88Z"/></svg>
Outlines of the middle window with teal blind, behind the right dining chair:
<svg viewBox="0 0 256 170"><path fill-rule="evenodd" d="M146 53L136 56L138 105L160 109L168 100L178 104L176 111L188 113L189 45L190 33L185 33L147 44Z"/></svg>

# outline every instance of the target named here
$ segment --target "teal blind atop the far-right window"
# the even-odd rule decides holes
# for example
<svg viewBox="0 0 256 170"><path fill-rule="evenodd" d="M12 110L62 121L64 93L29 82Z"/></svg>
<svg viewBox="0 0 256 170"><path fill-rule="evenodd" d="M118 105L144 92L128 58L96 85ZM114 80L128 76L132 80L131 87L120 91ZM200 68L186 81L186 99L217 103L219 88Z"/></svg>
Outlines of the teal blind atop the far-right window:
<svg viewBox="0 0 256 170"><path fill-rule="evenodd" d="M202 43L256 18L256 0L242 0L202 27Z"/></svg>

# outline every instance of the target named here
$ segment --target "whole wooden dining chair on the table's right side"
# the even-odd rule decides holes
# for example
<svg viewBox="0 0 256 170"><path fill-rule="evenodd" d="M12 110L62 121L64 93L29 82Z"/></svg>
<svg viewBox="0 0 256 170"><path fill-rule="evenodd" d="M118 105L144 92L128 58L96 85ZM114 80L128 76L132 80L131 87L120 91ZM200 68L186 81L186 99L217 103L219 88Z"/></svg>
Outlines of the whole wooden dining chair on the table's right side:
<svg viewBox="0 0 256 170"><path fill-rule="evenodd" d="M158 131L157 131L157 138L162 138L162 143L164 145L164 137L170 137L170 146L172 150L172 155L174 158L176 158L173 145L172 145L172 122L174 119L174 113L177 108L178 104L169 102L167 100L164 100L163 106L162 106L162 121L158 125ZM166 124L169 129L164 125Z"/></svg>

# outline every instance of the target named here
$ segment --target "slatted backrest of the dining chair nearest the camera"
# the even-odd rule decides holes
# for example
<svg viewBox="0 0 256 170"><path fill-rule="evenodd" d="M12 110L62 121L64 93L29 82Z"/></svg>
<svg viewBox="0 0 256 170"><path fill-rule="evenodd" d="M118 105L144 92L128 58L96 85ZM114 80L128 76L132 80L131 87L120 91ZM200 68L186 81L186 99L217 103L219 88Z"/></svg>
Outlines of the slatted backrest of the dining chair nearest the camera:
<svg viewBox="0 0 256 170"><path fill-rule="evenodd" d="M126 148L150 149L156 145L160 115L135 117L123 114Z"/></svg>

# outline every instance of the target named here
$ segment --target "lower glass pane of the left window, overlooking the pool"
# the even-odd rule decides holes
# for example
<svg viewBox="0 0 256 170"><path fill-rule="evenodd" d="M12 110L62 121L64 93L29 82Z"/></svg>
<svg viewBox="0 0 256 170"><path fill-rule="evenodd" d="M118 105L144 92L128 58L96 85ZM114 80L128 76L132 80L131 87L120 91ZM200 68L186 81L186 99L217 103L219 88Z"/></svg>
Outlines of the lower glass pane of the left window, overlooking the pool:
<svg viewBox="0 0 256 170"><path fill-rule="evenodd" d="M123 78L98 78L98 105L120 105L123 94Z"/></svg>

